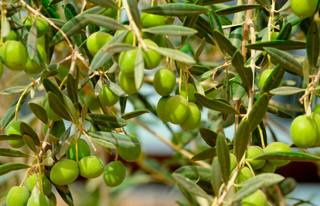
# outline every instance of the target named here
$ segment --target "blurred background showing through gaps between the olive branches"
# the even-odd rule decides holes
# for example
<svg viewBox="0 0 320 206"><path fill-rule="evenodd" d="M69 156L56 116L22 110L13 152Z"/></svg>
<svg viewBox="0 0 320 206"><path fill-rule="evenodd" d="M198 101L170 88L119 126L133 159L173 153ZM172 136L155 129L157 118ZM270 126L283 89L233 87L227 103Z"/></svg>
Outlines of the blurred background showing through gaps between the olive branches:
<svg viewBox="0 0 320 206"><path fill-rule="evenodd" d="M236 5L237 1L230 1L224 4L219 4L218 6L226 7L228 5ZM277 0L278 6L281 7L286 0ZM72 3L77 11L80 11L81 1L70 1L65 0L57 5L57 10L60 13L61 18L64 18L62 4ZM140 0L139 7L144 8L150 6L151 0ZM268 16L263 13L263 22L265 27L267 24ZM26 14L24 14L26 15ZM229 16L230 19L233 18L232 15ZM65 19L64 19L65 20ZM122 15L122 21L126 20L125 15ZM174 24L181 24L179 19L175 19ZM225 30L225 33L228 34L228 29ZM304 39L305 34L303 28L299 25L293 27L292 39ZM179 46L179 38L171 38L175 46ZM42 42L41 42L42 41ZM38 40L39 43L43 44L43 39ZM185 46L182 48L185 52L192 54L200 44L200 40L196 37L188 38ZM65 42L61 42L55 47L55 54L52 58L52 62L59 62L61 59L67 57L70 54L70 51ZM292 51L292 54L295 56L306 56L305 50ZM200 64L208 68L214 68L218 65L223 64L221 61L222 55L219 50L219 47L213 47L209 44L206 44L206 47L203 51L203 54L200 56ZM84 65L81 62L78 62L82 71L86 71ZM65 75L68 73L70 66L70 61L65 62L59 68L58 78L62 80ZM165 66L165 61L159 66L162 68ZM232 68L229 68L232 73ZM146 71L147 77L153 77L155 70ZM257 71L259 75L260 71ZM215 81L217 83L222 82L225 76L223 70L217 72L215 76ZM36 78L35 78L36 79ZM210 79L210 78L209 78ZM30 80L24 72L12 72L10 70L5 70L4 75L0 81L0 90L13 86L23 86L29 84ZM304 83L299 77L292 76L288 73L285 75L284 84L291 86L298 86L305 88ZM203 86L205 89L212 87L211 80L204 81ZM27 100L35 103L41 103L45 91L44 88L39 86L36 88L36 95L33 100L30 98ZM98 102L94 97L94 90L87 84L81 91L81 94L87 101L89 108L93 112L100 112ZM218 97L220 91L214 91L210 94L210 97ZM156 104L160 99L151 84L144 83L142 88L139 91L139 95L132 95L129 97L125 113L136 110L136 109L146 109L154 110ZM4 116L5 111L10 107L10 105L19 98L19 95L11 96L0 96L0 118ZM300 114L303 112L303 107L301 107L298 102L298 95L291 96L277 96L272 98L271 104L279 106L279 103L284 103L283 110L292 113L293 115ZM245 102L244 98L244 102ZM135 104L132 104L135 102ZM34 120L34 115L31 113L27 103L24 104L22 109L19 111L19 119L25 122L28 122L33 125L34 130L40 136L40 139L43 138L42 124L40 121ZM119 108L119 105L115 106ZM280 107L279 107L280 108ZM281 108L280 108L281 109ZM293 112L292 112L293 111ZM219 118L215 119L214 117L219 116L217 112L208 111L204 108L202 112L202 123L201 126L206 126L212 130L216 130L221 120ZM234 124L231 119L234 119L234 116L229 115L229 118L226 122L223 122L224 131L226 137L229 140L232 140L234 135ZM174 144L185 147L190 150L190 152L196 154L201 150L208 149L205 142L201 139L197 130L184 132L180 129L179 126L172 125L171 123L164 125L159 118L157 118L152 112L148 114L143 114L142 116L136 118L137 121L142 122L147 125L153 132L161 135L165 139L172 141ZM272 114L267 114L264 122L266 125L268 142L275 140L282 141L287 144L291 144L290 138L290 125L291 119L278 118ZM69 126L68 122L65 122L66 128ZM90 125L87 125L89 129ZM136 125L132 122L129 122L129 125L125 127L129 134L133 134L141 142L141 148L143 154L140 159L135 163L124 162L127 167L127 177L124 180L124 183L115 188L108 188L104 185L102 176L97 179L86 180L84 178L79 178L72 184L69 185L72 192L73 200L76 206L93 206L93 205L110 205L110 206L171 206L178 205L175 201L184 201L185 197L180 192L179 188L174 184L173 179L171 178L171 172L177 169L180 165L190 164L188 159L181 157L179 154L170 149L166 144L156 138L156 136L145 128ZM4 133L4 130L1 131ZM9 148L5 141L0 141L1 148ZM26 146L22 148L26 150ZM308 149L308 153L319 155L319 149ZM111 154L108 150L101 147L97 148L97 151L92 154L99 156L105 164L114 158L114 152ZM5 164L8 162L25 162L28 163L29 160L26 158L10 158L10 157L0 157L0 164ZM211 160L208 162L210 163ZM320 178L319 178L319 167L318 163L300 163L293 162L284 167L278 168L276 173L283 175L288 178L286 185L283 185L282 193L286 191L292 191L283 201L289 205L298 205L299 200L294 198L310 201L313 205L320 205ZM21 180L25 175L25 170L14 171L3 176L0 176L0 205L5 205L5 195L12 186L19 185ZM55 193L58 203L57 205L63 206L66 205L63 200L60 198L58 193L53 187L53 192ZM274 191L270 192L271 194ZM272 195L269 195L269 198ZM290 199L291 198L291 199ZM205 200L199 200L203 205L209 205ZM299 205L310 205L309 203L302 203Z"/></svg>

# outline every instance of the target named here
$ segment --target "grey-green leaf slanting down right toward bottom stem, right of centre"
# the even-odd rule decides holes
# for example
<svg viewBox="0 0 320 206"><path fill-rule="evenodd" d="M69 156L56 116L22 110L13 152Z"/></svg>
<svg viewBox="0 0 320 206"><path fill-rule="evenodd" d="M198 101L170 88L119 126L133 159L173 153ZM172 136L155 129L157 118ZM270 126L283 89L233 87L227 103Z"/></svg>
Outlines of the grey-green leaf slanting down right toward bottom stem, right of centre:
<svg viewBox="0 0 320 206"><path fill-rule="evenodd" d="M191 194L204 197L208 200L213 199L210 195L204 192L204 190L201 187L199 187L196 183L184 177L183 175L172 173L172 177L178 182L178 184L180 184L181 187L185 188Z"/></svg>

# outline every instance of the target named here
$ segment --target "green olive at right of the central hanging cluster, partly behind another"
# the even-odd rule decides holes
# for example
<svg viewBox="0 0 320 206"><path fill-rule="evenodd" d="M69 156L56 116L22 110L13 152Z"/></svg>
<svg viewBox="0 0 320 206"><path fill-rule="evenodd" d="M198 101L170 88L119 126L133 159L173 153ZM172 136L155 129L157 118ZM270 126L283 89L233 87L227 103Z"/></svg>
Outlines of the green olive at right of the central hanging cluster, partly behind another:
<svg viewBox="0 0 320 206"><path fill-rule="evenodd" d="M189 102L187 113L188 113L187 118L179 125L182 129L186 131L194 130L200 124L200 120L201 120L200 109L195 103Z"/></svg>

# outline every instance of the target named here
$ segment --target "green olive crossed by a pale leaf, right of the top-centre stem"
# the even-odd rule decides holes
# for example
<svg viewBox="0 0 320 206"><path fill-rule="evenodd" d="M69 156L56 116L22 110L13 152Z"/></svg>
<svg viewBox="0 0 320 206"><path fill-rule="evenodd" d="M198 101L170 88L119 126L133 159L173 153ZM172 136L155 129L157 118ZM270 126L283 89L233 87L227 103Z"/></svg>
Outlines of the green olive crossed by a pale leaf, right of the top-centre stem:
<svg viewBox="0 0 320 206"><path fill-rule="evenodd" d="M150 39L143 40L148 46L158 47L158 45L151 41ZM156 68L162 59L162 55L159 54L155 50L148 49L147 52L143 51L143 58L144 58L144 68L145 69L154 69Z"/></svg>

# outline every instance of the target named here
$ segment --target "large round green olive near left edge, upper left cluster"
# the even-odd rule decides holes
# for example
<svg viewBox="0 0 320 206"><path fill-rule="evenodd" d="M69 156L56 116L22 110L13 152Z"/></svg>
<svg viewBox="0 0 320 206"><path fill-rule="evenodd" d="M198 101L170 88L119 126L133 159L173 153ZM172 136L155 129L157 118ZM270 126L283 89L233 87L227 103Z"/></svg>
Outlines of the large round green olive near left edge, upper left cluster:
<svg viewBox="0 0 320 206"><path fill-rule="evenodd" d="M20 42L9 40L1 46L0 57L8 69L20 71L26 66L28 52Z"/></svg>

